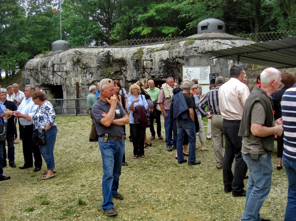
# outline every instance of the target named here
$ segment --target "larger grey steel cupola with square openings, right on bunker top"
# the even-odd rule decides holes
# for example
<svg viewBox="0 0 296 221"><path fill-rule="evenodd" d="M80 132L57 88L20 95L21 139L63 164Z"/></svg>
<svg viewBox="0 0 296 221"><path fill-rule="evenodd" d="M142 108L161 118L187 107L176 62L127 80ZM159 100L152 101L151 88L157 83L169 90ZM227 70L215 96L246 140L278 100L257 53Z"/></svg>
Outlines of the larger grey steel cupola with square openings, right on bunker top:
<svg viewBox="0 0 296 221"><path fill-rule="evenodd" d="M208 18L202 20L197 25L197 34L202 32L224 32L225 33L225 23L219 19Z"/></svg>

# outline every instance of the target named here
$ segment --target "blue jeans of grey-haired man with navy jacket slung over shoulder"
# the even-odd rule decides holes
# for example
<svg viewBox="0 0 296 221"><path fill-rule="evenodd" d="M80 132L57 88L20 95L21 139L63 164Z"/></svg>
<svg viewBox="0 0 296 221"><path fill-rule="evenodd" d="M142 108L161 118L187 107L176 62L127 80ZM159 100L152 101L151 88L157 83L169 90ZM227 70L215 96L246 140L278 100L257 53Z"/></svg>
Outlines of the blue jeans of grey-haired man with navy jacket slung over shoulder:
<svg viewBox="0 0 296 221"><path fill-rule="evenodd" d="M177 141L177 154L178 154L178 161L184 160L183 155L183 142L184 142L184 135L185 133L188 136L189 140L189 157L188 162L194 162L195 158L195 144L196 144L196 137L195 137L195 124L192 119L177 119L177 134L178 134L178 141Z"/></svg>

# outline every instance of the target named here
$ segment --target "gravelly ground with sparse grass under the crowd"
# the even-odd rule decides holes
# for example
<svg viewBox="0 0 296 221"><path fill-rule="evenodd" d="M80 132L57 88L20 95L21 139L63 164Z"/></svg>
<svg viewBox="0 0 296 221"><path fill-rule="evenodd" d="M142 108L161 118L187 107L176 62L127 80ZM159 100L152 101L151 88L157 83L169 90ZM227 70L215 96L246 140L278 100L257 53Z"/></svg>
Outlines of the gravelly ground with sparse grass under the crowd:
<svg viewBox="0 0 296 221"><path fill-rule="evenodd" d="M98 144L89 142L89 116L56 119L58 134L54 149L56 177L40 180L41 173L23 165L22 145L15 145L16 168L4 168L10 180L0 182L0 220L240 220L245 197L223 192L222 170L217 170L213 142L209 151L196 151L200 165L179 165L165 141L152 140L145 158L133 159L133 147L126 140L126 162L114 200L117 217L101 211L102 162ZM163 125L163 121L162 121ZM156 125L155 125L156 129ZM129 134L127 125L126 131ZM164 136L164 128L162 128ZM147 131L147 137L150 137ZM198 138L197 138L198 140ZM276 143L275 143L276 145ZM200 147L199 140L197 146ZM186 157L185 157L186 158ZM261 216L283 220L288 181L285 170L276 170L276 148L272 153L274 172L271 192ZM46 169L45 162L43 170ZM247 180L245 180L247 187Z"/></svg>

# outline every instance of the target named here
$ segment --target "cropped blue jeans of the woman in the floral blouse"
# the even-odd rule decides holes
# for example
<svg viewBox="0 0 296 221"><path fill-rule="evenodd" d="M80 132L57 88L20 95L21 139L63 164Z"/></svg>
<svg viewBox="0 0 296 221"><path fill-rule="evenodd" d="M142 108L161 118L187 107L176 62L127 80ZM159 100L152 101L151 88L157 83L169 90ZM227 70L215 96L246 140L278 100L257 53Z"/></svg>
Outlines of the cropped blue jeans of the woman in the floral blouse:
<svg viewBox="0 0 296 221"><path fill-rule="evenodd" d="M52 126L45 131L46 144L39 145L40 153L46 163L47 169L54 169L54 143L57 138L57 126Z"/></svg>

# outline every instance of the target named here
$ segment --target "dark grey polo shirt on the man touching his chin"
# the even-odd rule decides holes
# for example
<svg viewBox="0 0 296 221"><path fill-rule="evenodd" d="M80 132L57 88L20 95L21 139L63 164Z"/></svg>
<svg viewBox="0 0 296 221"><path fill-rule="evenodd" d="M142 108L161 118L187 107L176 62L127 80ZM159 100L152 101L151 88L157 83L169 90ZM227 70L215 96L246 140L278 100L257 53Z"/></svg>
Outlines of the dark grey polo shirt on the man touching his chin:
<svg viewBox="0 0 296 221"><path fill-rule="evenodd" d="M109 137L122 137L123 132L123 126L118 126L115 124L111 124L109 127L105 127L100 123L100 121L103 119L102 113L108 113L110 110L110 104L107 102L104 102L102 99L99 99L91 108L91 114L94 118L94 124L96 126L96 132L99 136L104 136L106 133L109 135ZM114 119L120 119L123 118L126 115L125 110L120 105L119 102L116 104L115 108L115 116Z"/></svg>

